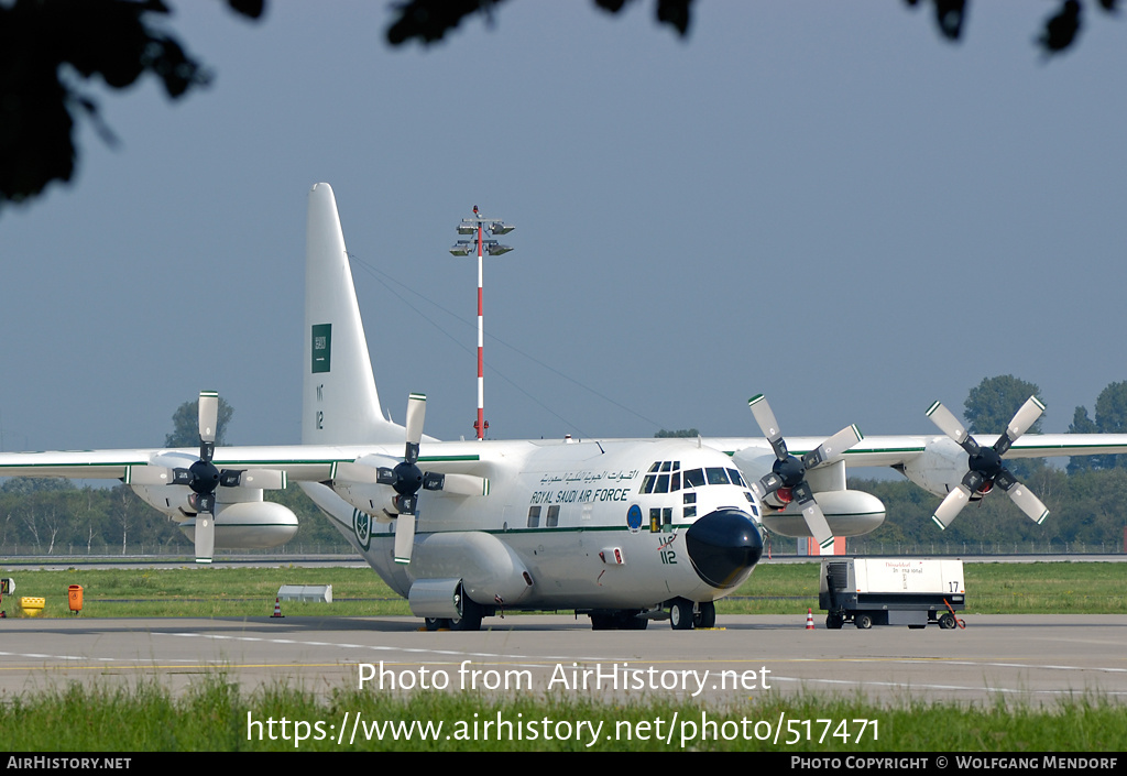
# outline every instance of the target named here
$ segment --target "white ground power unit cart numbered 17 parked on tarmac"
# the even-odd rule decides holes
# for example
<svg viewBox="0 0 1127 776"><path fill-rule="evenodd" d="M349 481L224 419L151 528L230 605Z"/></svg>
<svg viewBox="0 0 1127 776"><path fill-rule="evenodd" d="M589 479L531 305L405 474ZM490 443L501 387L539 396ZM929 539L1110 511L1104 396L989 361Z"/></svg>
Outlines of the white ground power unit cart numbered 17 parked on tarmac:
<svg viewBox="0 0 1127 776"><path fill-rule="evenodd" d="M859 628L938 623L950 629L958 623L955 612L966 608L962 561L823 558L818 606L832 629L845 623Z"/></svg>

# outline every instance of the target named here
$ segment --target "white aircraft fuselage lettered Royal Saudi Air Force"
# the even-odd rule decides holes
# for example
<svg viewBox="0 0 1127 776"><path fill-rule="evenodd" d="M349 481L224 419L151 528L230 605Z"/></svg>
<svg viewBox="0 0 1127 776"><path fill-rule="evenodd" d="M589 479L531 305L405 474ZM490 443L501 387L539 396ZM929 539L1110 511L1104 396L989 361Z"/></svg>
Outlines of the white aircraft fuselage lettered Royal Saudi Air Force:
<svg viewBox="0 0 1127 776"><path fill-rule="evenodd" d="M487 473L492 487L482 496L421 492L409 565L394 563L394 520L381 510L362 512L323 485L307 491L405 597L419 579L459 577L478 602L506 608L646 608L721 598L758 559L702 576L702 564L724 562L702 561L699 543L694 559L689 529L726 512L757 532L761 508L731 460L695 441L424 442L420 468L450 471L458 461Z"/></svg>

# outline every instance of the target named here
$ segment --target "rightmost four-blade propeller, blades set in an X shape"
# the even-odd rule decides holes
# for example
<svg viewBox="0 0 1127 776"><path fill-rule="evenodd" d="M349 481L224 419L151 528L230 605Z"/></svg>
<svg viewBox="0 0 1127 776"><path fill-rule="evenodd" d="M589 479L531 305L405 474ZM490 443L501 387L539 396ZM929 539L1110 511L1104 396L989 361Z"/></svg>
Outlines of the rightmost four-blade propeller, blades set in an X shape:
<svg viewBox="0 0 1127 776"><path fill-rule="evenodd" d="M955 517L967 505L974 493L985 495L997 485L1008 494L1013 503L1024 512L1030 520L1040 524L1049 515L1049 511L1041 503L1041 500L1030 493L1029 488L1018 482L1018 478L1002 465L1004 456L1014 442L1029 430L1037 418L1045 412L1045 405L1036 396L1021 405L1021 408L1010 421L1005 432L997 438L991 447L980 447L966 427L959 423L958 418L939 402L928 408L928 417L939 426L940 431L950 436L955 442L967 451L967 474L947 497L940 503L939 509L931 517L940 528L947 528L955 520Z"/></svg>

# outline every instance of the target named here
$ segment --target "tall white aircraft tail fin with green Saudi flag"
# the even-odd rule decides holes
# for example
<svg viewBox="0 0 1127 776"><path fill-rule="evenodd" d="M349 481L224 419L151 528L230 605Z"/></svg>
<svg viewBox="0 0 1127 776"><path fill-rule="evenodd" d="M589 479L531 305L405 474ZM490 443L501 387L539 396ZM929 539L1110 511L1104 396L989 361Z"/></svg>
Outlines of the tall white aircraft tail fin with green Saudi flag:
<svg viewBox="0 0 1127 776"><path fill-rule="evenodd" d="M305 227L304 444L402 442L384 420L356 302L337 201L326 183L309 192Z"/></svg>

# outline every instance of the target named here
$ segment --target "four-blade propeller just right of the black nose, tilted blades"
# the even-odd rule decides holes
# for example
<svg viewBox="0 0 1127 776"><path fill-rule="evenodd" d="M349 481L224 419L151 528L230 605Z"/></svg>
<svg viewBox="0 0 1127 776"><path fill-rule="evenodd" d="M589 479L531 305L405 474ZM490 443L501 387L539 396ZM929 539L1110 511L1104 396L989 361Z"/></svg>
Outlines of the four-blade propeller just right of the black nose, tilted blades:
<svg viewBox="0 0 1127 776"><path fill-rule="evenodd" d="M775 500L782 506L792 500L797 501L810 535L822 549L828 549L834 544L834 535L829 530L829 523L826 522L826 515L822 512L822 508L814 500L814 491L806 482L806 473L833 462L837 456L861 441L861 432L855 425L849 425L799 460L787 450L787 442L782 438L782 432L779 431L779 422L775 421L774 413L771 412L771 406L763 394L753 396L747 402L747 406L751 407L755 422L763 435L771 442L771 448L775 453L775 462L771 467L771 473L753 483L752 490L761 501L775 494Z"/></svg>

